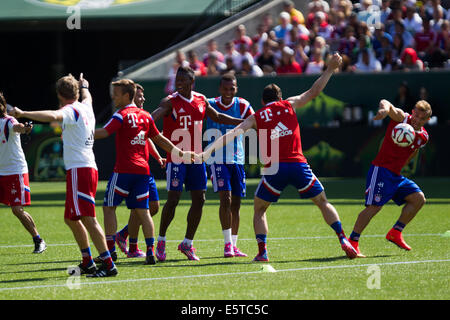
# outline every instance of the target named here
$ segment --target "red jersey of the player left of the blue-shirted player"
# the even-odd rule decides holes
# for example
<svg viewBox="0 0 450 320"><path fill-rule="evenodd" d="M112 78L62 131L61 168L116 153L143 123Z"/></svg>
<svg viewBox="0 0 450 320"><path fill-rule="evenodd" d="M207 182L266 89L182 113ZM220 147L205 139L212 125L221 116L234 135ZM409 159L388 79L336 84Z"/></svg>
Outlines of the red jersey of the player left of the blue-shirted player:
<svg viewBox="0 0 450 320"><path fill-rule="evenodd" d="M191 99L178 92L169 96L172 112L163 119L163 134L183 151L202 152L203 119L206 116L206 98L192 91ZM171 154L167 161L172 162Z"/></svg>

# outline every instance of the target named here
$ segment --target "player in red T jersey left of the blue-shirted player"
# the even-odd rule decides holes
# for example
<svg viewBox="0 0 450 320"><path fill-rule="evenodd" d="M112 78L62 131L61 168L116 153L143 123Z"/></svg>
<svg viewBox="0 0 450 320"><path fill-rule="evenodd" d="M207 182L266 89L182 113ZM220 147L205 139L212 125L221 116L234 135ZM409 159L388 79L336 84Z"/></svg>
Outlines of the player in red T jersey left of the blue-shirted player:
<svg viewBox="0 0 450 320"><path fill-rule="evenodd" d="M160 106L152 113L155 121L163 120L163 134L183 150L202 151L203 120L208 116L215 122L237 125L243 120L217 112L209 104L206 97L192 90L194 71L189 67L178 68L175 78L177 91L161 101ZM202 216L206 193L206 166L204 163L186 163L180 159L167 156L167 190L165 203L159 226L156 257L160 261L166 259L166 231L175 216L175 209L183 191L190 191L192 205L187 216L185 238L178 250L189 260L199 260L193 247L193 239Z"/></svg>

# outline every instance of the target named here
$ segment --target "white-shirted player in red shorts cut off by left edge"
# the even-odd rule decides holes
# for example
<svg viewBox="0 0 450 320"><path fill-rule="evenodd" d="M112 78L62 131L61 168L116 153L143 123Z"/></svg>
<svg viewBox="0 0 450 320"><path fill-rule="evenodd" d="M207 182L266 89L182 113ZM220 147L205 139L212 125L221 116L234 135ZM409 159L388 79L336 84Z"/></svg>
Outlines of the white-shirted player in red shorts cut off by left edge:
<svg viewBox="0 0 450 320"><path fill-rule="evenodd" d="M47 248L31 215L23 207L31 204L28 166L20 144L20 135L29 134L33 126L22 124L7 114L6 100L0 92L0 202L11 207L12 213L31 234L33 253Z"/></svg>

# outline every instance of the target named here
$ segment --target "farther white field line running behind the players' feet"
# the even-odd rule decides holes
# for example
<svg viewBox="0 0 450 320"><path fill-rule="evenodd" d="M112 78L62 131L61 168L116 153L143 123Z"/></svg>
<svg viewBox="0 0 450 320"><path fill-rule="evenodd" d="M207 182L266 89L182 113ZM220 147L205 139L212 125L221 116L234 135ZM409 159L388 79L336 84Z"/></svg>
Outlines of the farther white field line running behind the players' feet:
<svg viewBox="0 0 450 320"><path fill-rule="evenodd" d="M440 233L416 233L416 234L405 234L406 237L436 237L441 236ZM368 237L368 238L381 238L385 237L385 234L368 234L363 235L362 237ZM317 236L317 237L283 237L283 238L267 238L268 241L279 241L279 240L314 240L314 239L334 239L336 236ZM167 240L166 242L181 242L183 240ZM216 242L216 241L223 241L223 239L196 239L194 242ZM256 241L254 238L252 239L240 239L239 241ZM144 241L140 241L139 243L145 243ZM72 243L47 243L48 247L61 247L61 246L76 246L77 244L74 242ZM7 249L7 248L25 248L25 247L34 247L34 244L17 244L17 245L0 245L0 249Z"/></svg>

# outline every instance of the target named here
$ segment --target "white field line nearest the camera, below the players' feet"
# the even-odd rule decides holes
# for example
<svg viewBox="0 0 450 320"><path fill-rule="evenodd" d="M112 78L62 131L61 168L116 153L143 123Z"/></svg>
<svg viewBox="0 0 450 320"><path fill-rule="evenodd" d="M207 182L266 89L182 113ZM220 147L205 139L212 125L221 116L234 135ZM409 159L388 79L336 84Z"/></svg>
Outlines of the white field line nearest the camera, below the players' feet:
<svg viewBox="0 0 450 320"><path fill-rule="evenodd" d="M418 263L440 263L440 262L450 262L447 260L417 260L417 261L399 261L399 262L386 262L386 263L371 263L371 264L359 264L359 265L338 265L338 266L323 266L323 267L306 267L306 268L294 268L294 269L283 269L277 270L277 272L295 272L295 271L305 271L305 270L327 270L327 269L344 269L344 268L361 268L369 266L393 266L393 265L407 265L407 264L418 264ZM250 264L250 263L249 263ZM256 264L255 264L256 265ZM261 265L261 264L260 264ZM173 277L161 277L161 278L141 278L141 279L124 279L124 280L110 280L110 281L92 281L92 282L79 282L82 285L105 285L105 284L120 284L120 283L132 283L141 281L158 281L158 280L179 280L179 279L192 279L192 278L211 278L211 277L229 277L236 275L247 275L247 274L262 274L261 271L246 271L246 272L232 272L232 273L214 273L214 274L199 274L199 275L187 275L187 276L173 276ZM11 291L11 290L30 290L30 289L43 289L43 288L61 288L67 287L67 283L64 284L53 284L53 285L39 285L39 286L27 286L27 287L11 287L11 288L0 288L1 291Z"/></svg>

